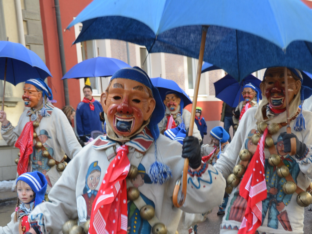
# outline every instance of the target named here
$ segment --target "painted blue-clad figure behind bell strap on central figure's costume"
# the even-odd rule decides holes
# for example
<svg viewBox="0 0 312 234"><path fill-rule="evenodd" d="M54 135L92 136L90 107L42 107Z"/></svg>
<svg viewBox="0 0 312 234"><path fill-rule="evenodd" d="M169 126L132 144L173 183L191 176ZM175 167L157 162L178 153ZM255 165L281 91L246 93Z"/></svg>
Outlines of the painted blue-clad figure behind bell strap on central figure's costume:
<svg viewBox="0 0 312 234"><path fill-rule="evenodd" d="M139 188L144 184L151 184L152 181L149 178L149 175L145 173L145 167L142 164L139 164L138 175L131 180L133 187ZM144 194L140 193L140 196L147 205L150 205L155 208L155 204L152 200L148 199ZM150 233L151 225L140 215L140 210L134 202L128 202L128 233Z"/></svg>

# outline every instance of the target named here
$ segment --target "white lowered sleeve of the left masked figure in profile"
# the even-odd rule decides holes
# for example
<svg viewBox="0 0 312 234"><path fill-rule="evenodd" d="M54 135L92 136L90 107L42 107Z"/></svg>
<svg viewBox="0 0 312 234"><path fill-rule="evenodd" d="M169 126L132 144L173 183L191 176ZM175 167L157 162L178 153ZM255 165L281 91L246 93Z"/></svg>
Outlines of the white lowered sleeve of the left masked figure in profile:
<svg viewBox="0 0 312 234"><path fill-rule="evenodd" d="M57 123L55 123L55 126L59 126L60 129L59 131L56 131L57 141L66 155L73 158L82 147L77 141L75 132L68 122L66 115L59 109L54 109L54 111L57 111L55 113L57 115Z"/></svg>

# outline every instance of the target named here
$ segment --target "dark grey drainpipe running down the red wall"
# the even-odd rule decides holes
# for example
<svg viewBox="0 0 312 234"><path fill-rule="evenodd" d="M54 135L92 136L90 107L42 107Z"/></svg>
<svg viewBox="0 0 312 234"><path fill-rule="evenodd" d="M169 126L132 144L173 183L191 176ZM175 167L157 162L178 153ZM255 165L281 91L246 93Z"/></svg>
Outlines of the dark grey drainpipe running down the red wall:
<svg viewBox="0 0 312 234"><path fill-rule="evenodd" d="M54 0L54 5L55 5L55 14L56 14L57 34L58 34L59 46L60 46L60 58L61 58L62 74L64 76L66 73L66 64L65 64L65 53L64 53L64 43L63 43L59 0ZM63 80L63 86L64 86L64 95L65 95L65 105L68 106L69 105L69 95L68 95L67 79Z"/></svg>

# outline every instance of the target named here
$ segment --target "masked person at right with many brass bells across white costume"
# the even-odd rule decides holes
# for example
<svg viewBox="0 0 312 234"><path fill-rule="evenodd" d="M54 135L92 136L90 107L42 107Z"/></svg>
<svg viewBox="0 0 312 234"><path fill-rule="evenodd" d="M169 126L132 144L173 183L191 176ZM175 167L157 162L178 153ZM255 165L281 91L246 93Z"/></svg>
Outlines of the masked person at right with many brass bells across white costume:
<svg viewBox="0 0 312 234"><path fill-rule="evenodd" d="M241 230L247 227L253 228L253 233L303 233L304 206L308 206L305 203L310 203L312 198L305 192L310 189L312 177L312 123L309 121L312 113L301 111L299 105L300 98L307 98L312 92L301 86L300 71L288 68L287 79L286 88L284 67L266 70L260 85L260 106L246 111L232 142L214 165L227 178L229 187L226 191L232 190L220 233L242 233ZM286 133L285 92L289 96L291 134ZM305 119L305 126L302 125L302 118ZM293 156L289 153L290 138L296 142ZM264 171L260 167L261 154L264 154ZM247 180L244 180L245 176ZM250 210L248 202L251 201L247 202L241 196L245 186L248 187L248 183L242 183L248 178L249 181L255 178L254 186L261 190L254 196L260 193L263 196L262 214L255 219L258 221L254 220L254 226L250 224L253 216L248 219L246 215Z"/></svg>

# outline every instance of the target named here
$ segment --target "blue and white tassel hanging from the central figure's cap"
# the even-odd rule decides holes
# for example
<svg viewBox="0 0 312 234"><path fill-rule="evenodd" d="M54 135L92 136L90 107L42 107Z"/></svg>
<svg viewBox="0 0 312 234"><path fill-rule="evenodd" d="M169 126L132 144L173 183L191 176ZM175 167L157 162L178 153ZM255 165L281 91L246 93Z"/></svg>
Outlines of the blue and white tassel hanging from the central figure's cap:
<svg viewBox="0 0 312 234"><path fill-rule="evenodd" d="M154 184L163 184L167 182L171 177L171 169L167 165L157 161L156 154L156 141L155 143L155 162L149 167L149 178Z"/></svg>

